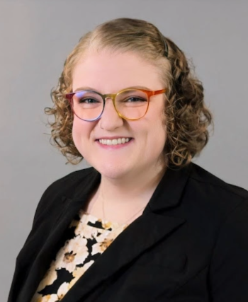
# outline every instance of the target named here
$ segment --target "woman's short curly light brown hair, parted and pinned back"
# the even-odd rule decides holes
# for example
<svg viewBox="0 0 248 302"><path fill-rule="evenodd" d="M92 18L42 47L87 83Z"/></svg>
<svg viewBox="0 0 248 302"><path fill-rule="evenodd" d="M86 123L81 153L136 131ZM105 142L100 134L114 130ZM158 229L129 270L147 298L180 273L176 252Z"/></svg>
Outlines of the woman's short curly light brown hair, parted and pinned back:
<svg viewBox="0 0 248 302"><path fill-rule="evenodd" d="M164 55L164 45L168 47L168 56ZM72 139L74 115L64 95L72 92L72 72L79 59L90 50L103 49L134 52L158 67L167 87L164 159L168 166L182 167L190 163L208 143L208 127L213 125L212 114L203 100L202 83L194 75L184 52L172 40L164 37L152 23L132 18L118 18L98 25L81 37L65 60L57 87L51 91L54 106L45 108L45 113L54 117L48 122L51 144L60 149L67 163L77 164L83 159Z"/></svg>

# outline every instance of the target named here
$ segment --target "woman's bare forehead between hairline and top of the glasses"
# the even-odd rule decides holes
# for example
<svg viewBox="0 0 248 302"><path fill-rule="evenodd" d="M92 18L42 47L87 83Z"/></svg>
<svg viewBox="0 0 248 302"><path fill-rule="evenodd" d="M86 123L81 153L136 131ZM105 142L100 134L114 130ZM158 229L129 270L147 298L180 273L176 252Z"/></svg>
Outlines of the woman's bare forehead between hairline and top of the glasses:
<svg viewBox="0 0 248 302"><path fill-rule="evenodd" d="M85 54L74 66L72 91L84 86L101 93L115 93L131 86L164 88L159 69L133 52Z"/></svg>

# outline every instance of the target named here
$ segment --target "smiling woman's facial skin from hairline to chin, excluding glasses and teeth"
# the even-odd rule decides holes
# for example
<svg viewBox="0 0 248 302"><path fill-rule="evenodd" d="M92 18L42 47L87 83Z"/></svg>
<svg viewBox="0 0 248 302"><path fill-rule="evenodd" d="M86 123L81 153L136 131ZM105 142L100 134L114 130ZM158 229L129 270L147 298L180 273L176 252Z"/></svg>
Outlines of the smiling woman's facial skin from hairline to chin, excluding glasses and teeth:
<svg viewBox="0 0 248 302"><path fill-rule="evenodd" d="M73 91L88 87L105 94L133 86L143 86L152 91L164 88L157 67L132 52L87 54L74 67ZM111 98L107 98L100 120L86 122L74 115L74 144L86 161L106 178L117 179L161 170L159 159L166 140L164 103L164 94L153 95L145 117L130 121L119 117ZM99 141L118 138L130 138L130 141L111 146Z"/></svg>

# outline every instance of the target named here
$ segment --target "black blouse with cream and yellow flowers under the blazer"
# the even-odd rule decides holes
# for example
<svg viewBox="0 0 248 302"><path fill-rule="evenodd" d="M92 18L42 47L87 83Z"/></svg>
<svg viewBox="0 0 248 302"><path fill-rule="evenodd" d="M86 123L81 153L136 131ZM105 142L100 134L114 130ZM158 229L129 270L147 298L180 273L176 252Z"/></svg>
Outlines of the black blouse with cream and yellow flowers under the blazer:
<svg viewBox="0 0 248 302"><path fill-rule="evenodd" d="M60 301L127 226L79 211L69 225L64 246L57 252L31 302Z"/></svg>

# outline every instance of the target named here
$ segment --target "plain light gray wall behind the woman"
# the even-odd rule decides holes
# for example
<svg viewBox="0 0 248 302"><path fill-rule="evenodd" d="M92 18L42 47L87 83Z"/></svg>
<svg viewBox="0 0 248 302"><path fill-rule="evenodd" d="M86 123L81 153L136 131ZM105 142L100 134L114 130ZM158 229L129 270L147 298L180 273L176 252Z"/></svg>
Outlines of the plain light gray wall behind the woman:
<svg viewBox="0 0 248 302"><path fill-rule="evenodd" d="M197 163L248 189L247 1L1 1L1 272L6 301L16 255L35 207L51 182L72 170L49 144L50 89L79 37L99 23L130 17L151 21L196 66L213 110L215 132Z"/></svg>

